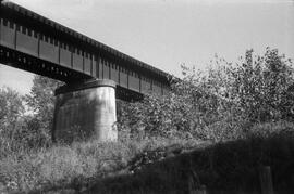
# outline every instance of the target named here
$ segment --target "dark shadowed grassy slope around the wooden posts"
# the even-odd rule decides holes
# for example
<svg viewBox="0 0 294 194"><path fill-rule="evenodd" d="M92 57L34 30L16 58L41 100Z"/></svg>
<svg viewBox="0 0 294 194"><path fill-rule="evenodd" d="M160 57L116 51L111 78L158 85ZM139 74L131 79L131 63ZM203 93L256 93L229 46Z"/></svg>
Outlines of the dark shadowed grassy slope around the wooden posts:
<svg viewBox="0 0 294 194"><path fill-rule="evenodd" d="M260 166L271 167L275 193L293 193L294 133L196 148L145 165L134 174L97 181L87 193L188 193L203 184L209 193L260 193Z"/></svg>

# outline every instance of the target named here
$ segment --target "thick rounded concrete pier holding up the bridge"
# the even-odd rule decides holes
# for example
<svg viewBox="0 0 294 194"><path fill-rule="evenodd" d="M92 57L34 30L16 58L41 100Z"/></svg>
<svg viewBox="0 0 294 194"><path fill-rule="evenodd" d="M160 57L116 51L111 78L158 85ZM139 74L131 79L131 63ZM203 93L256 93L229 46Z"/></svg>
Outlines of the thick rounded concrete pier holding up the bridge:
<svg viewBox="0 0 294 194"><path fill-rule="evenodd" d="M52 130L56 142L118 140L114 81L63 86L56 90L56 95Z"/></svg>

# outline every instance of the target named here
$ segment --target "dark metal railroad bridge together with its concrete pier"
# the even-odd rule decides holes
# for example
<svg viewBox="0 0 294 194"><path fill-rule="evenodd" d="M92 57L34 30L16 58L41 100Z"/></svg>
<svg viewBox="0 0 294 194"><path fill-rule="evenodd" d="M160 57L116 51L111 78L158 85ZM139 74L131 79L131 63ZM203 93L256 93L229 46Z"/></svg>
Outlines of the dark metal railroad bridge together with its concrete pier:
<svg viewBox="0 0 294 194"><path fill-rule="evenodd" d="M56 90L56 141L118 139L115 99L163 95L168 74L12 2L0 4L0 63L64 81Z"/></svg>

